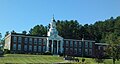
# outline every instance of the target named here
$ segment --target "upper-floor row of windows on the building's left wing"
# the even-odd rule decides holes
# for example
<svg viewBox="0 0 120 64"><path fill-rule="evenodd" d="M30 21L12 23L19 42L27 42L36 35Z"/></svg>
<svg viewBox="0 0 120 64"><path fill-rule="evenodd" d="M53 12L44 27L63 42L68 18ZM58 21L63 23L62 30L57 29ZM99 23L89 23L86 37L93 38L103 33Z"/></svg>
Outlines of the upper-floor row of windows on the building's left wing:
<svg viewBox="0 0 120 64"><path fill-rule="evenodd" d="M38 40L38 41L37 41ZM17 42L17 37L13 37L13 42ZM32 38L24 38L24 43L27 44L29 42L29 44L32 44L32 42L34 42L34 44L42 44L42 42L45 44L46 43L46 39L37 39L34 38L34 40ZM22 43L22 37L18 37L18 43Z"/></svg>

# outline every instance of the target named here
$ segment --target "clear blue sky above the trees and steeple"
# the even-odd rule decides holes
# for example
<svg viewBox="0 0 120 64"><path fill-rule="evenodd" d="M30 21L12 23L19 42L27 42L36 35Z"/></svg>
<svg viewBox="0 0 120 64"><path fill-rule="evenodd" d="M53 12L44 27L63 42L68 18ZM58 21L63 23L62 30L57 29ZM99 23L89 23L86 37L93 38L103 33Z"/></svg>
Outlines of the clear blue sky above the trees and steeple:
<svg viewBox="0 0 120 64"><path fill-rule="evenodd" d="M120 16L120 0L0 0L0 33L27 32L51 19L77 20L80 24Z"/></svg>

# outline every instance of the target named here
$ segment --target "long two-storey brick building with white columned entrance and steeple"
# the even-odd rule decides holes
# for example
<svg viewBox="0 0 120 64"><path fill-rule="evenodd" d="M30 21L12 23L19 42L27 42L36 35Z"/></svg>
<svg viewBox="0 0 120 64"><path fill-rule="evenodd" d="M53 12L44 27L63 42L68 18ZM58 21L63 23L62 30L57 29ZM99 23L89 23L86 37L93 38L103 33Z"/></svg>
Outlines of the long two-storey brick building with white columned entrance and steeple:
<svg viewBox="0 0 120 64"><path fill-rule="evenodd" d="M45 53L74 56L94 56L95 41L64 39L58 35L53 18L47 36L10 33L5 37L4 49L11 53Z"/></svg>

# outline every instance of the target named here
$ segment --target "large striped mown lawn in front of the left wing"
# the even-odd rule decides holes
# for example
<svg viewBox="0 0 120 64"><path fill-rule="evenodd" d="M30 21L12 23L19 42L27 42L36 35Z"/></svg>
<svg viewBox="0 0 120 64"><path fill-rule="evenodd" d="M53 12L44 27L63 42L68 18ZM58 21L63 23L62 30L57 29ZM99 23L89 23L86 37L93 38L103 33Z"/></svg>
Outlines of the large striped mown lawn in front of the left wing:
<svg viewBox="0 0 120 64"><path fill-rule="evenodd" d="M63 62L62 57L52 55L6 54L0 57L1 63L57 63Z"/></svg>

